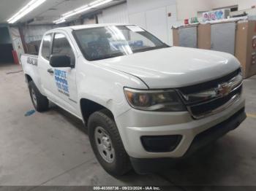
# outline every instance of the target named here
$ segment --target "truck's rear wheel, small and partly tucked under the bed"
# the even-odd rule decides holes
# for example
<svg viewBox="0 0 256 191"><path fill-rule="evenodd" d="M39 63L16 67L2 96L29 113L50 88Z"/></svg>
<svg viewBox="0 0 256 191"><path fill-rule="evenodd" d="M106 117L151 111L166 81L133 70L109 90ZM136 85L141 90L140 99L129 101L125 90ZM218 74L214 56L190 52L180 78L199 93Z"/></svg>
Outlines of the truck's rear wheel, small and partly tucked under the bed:
<svg viewBox="0 0 256 191"><path fill-rule="evenodd" d="M37 89L37 86L34 84L33 81L29 82L29 94L31 97L31 101L34 105L34 109L37 110L37 112L45 112L49 108L49 101L48 98L46 98L44 95L42 95L39 90Z"/></svg>

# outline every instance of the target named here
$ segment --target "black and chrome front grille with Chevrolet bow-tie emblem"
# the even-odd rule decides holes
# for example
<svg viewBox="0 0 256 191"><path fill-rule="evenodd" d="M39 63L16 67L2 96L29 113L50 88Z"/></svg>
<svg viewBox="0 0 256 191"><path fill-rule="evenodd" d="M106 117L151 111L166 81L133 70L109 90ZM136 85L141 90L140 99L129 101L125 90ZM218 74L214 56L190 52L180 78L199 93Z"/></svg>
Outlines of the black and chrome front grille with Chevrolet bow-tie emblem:
<svg viewBox="0 0 256 191"><path fill-rule="evenodd" d="M195 120L222 112L239 100L242 93L241 70L220 79L178 90ZM191 88L193 87L193 88ZM203 87L203 88L202 88ZM189 91L190 90L190 91Z"/></svg>

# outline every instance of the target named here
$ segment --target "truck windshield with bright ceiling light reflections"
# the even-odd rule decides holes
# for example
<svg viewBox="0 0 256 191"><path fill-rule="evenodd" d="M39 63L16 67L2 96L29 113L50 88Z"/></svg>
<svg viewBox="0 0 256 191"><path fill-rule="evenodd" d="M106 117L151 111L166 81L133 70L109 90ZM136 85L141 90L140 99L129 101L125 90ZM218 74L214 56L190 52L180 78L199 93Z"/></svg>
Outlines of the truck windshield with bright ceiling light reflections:
<svg viewBox="0 0 256 191"><path fill-rule="evenodd" d="M168 47L138 26L86 28L74 33L83 55L89 61Z"/></svg>

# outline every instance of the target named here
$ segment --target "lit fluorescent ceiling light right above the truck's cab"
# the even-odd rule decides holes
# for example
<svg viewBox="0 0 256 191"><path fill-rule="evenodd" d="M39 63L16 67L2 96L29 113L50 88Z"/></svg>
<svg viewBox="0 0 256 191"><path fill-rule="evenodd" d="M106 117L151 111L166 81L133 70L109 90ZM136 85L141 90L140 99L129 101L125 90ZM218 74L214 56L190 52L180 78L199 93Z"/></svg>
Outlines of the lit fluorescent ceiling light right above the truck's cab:
<svg viewBox="0 0 256 191"><path fill-rule="evenodd" d="M61 20L65 20L67 19L68 17L72 17L73 15L78 15L79 13L81 12L86 12L88 11L89 9L92 9L92 8L95 8L95 7L99 7L103 4L108 4L109 2L111 2L113 0L97 0L97 1L94 1L90 4L86 4L86 5L83 5L82 7L78 7L77 9L74 9L72 11L69 11L69 12L66 12L64 13L63 15L61 15L61 18L58 19L58 20L54 20L53 23L59 23ZM62 23L62 22L61 22Z"/></svg>

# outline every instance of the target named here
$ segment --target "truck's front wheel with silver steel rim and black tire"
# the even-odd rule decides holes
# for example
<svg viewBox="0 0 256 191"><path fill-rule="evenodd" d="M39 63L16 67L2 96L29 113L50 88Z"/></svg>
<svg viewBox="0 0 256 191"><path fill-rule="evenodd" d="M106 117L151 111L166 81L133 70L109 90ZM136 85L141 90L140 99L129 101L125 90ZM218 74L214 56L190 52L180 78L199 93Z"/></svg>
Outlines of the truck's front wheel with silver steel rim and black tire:
<svg viewBox="0 0 256 191"><path fill-rule="evenodd" d="M97 160L108 174L121 176L132 169L116 122L107 110L89 117L89 139Z"/></svg>

